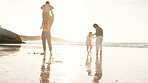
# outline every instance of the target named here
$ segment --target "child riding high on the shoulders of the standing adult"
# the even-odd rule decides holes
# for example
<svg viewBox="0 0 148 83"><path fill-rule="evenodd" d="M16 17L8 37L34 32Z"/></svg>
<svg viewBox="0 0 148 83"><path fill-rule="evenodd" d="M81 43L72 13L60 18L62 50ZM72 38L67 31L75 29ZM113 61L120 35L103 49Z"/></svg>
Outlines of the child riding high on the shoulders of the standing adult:
<svg viewBox="0 0 148 83"><path fill-rule="evenodd" d="M46 4L44 4L41 9L43 10L42 12L42 25L41 27L43 27L44 22L49 21L50 19L50 15L49 12L53 9L53 6L50 5L50 3L48 1L46 1Z"/></svg>

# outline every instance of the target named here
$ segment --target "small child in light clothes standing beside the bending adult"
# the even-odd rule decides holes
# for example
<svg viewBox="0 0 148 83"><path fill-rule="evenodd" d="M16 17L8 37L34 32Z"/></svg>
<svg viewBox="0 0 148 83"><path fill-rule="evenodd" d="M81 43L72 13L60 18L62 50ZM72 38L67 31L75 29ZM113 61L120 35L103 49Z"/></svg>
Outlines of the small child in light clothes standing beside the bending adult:
<svg viewBox="0 0 148 83"><path fill-rule="evenodd" d="M92 49L92 32L89 32L87 39L86 39L86 46L87 46L87 52L91 53L91 49Z"/></svg>

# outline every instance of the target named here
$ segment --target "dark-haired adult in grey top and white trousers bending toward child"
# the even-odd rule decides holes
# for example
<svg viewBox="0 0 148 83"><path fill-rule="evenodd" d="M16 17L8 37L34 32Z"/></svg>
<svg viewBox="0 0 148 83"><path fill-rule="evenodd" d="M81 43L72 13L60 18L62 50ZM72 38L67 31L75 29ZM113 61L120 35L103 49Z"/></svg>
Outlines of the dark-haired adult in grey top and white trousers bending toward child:
<svg viewBox="0 0 148 83"><path fill-rule="evenodd" d="M93 27L96 29L96 55L98 56L98 51L100 51L100 56L102 56L102 41L103 41L103 30L97 24L94 24Z"/></svg>

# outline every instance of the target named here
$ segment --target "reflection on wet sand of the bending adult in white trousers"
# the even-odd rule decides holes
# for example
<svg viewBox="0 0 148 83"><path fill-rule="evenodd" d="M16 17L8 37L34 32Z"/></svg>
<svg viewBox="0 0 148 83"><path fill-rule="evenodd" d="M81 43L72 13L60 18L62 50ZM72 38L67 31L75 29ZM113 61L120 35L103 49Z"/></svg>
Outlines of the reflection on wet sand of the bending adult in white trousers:
<svg viewBox="0 0 148 83"><path fill-rule="evenodd" d="M95 75L94 78L92 80L92 83L99 83L99 80L102 77L102 58L100 57L100 59L98 59L98 57L96 57L96 63L95 63Z"/></svg>

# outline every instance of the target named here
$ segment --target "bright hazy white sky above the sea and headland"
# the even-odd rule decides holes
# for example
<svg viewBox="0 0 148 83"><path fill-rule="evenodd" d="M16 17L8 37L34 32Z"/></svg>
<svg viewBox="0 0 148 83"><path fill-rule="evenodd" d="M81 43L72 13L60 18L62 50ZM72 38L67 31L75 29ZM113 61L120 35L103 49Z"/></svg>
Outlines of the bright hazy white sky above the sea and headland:
<svg viewBox="0 0 148 83"><path fill-rule="evenodd" d="M46 1L54 7L52 37L85 42L97 23L104 42L148 42L148 0L0 0L1 27L41 35L40 7Z"/></svg>

